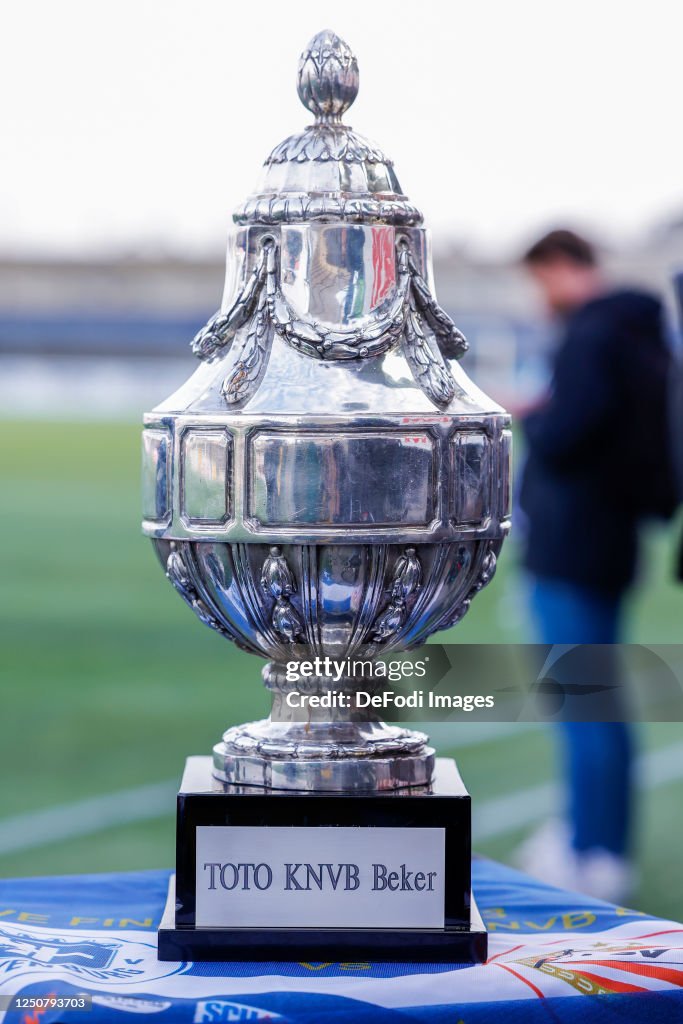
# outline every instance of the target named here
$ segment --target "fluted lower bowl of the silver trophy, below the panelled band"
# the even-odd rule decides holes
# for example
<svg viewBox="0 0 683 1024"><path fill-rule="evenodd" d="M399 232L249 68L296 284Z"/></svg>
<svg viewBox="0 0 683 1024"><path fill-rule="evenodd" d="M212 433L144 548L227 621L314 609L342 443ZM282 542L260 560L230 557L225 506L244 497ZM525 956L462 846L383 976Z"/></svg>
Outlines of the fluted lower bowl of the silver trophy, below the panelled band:
<svg viewBox="0 0 683 1024"><path fill-rule="evenodd" d="M207 626L278 663L419 646L462 618L493 577L501 546L153 543Z"/></svg>

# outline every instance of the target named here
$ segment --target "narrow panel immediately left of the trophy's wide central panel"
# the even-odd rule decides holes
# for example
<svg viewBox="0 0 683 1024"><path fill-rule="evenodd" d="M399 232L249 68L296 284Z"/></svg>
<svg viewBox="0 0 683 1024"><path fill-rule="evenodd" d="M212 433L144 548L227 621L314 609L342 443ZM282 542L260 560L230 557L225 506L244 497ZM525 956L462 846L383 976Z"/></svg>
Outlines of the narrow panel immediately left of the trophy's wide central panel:
<svg viewBox="0 0 683 1024"><path fill-rule="evenodd" d="M190 525L230 517L232 438L221 429L185 430L180 441L180 514Z"/></svg>

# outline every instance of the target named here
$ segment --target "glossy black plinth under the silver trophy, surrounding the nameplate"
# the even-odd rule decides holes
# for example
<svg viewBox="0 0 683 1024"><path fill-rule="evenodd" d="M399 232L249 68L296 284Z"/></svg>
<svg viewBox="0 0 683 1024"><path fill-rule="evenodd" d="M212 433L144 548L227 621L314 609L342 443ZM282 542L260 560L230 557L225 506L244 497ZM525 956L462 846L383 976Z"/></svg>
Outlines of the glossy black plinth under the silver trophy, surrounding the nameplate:
<svg viewBox="0 0 683 1024"><path fill-rule="evenodd" d="M483 961L486 957L487 936L470 892L470 819L469 794L455 761L450 759L437 759L430 792L403 790L351 795L300 794L258 786L223 785L212 777L210 758L188 758L178 794L176 877L171 883L159 929L159 958ZM199 826L262 828L260 859L264 861L269 856L276 857L272 837L282 835L268 833L268 829L368 828L371 840L372 828L443 829L443 927L266 927L263 923L257 927L251 924L241 927L237 915L228 926L221 923L217 927L212 923L198 927ZM312 835L306 834L308 837ZM396 834L399 838L405 835ZM413 838L419 848L422 840ZM343 847L342 843L340 847ZM340 848L339 856L344 856L343 848ZM314 851L311 851L311 857L314 859ZM234 881L233 871L229 879L230 883ZM422 884L425 885L424 880ZM412 898L423 899L421 894Z"/></svg>

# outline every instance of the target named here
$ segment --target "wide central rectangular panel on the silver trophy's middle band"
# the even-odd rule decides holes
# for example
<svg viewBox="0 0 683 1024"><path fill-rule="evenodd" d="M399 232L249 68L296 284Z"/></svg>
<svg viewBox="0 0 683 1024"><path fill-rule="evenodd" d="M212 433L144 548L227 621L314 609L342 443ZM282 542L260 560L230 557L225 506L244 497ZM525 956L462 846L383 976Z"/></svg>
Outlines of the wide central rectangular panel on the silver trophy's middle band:
<svg viewBox="0 0 683 1024"><path fill-rule="evenodd" d="M249 515L262 526L427 526L436 511L434 444L424 431L259 432Z"/></svg>

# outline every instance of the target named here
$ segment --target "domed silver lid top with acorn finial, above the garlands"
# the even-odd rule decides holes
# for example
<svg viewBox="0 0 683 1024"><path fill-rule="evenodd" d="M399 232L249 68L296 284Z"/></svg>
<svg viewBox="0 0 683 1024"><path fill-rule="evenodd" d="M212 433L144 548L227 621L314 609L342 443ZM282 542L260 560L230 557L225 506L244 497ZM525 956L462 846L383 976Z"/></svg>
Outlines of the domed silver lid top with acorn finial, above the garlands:
<svg viewBox="0 0 683 1024"><path fill-rule="evenodd" d="M266 158L256 194L234 211L236 223L421 224L422 214L402 194L391 160L342 123L358 92L358 65L348 44L329 29L302 52L297 91L315 121Z"/></svg>

